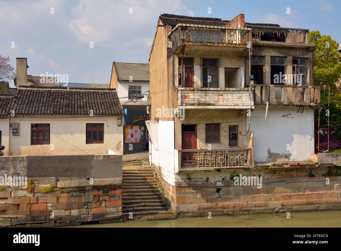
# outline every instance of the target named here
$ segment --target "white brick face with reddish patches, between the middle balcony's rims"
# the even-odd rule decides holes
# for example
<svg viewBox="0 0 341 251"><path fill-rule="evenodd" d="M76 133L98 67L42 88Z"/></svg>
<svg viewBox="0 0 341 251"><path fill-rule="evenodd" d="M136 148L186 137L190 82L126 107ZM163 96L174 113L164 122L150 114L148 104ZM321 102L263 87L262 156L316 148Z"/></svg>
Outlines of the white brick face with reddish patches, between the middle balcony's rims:
<svg viewBox="0 0 341 251"><path fill-rule="evenodd" d="M250 95L248 90L181 90L180 105L250 106Z"/></svg>

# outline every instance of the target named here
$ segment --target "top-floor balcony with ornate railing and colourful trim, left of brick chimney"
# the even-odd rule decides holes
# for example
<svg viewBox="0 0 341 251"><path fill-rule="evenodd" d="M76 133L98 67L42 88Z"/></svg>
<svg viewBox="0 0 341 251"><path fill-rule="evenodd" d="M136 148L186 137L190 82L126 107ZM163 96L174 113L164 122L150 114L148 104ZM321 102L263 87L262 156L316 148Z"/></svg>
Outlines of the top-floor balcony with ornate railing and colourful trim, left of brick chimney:
<svg viewBox="0 0 341 251"><path fill-rule="evenodd" d="M178 53L186 46L190 50L186 53L191 53L198 50L197 46L205 46L200 49L209 51L215 50L214 47L231 47L246 51L251 31L251 28L178 24L168 33L169 41L172 42L172 48L169 49L172 53Z"/></svg>

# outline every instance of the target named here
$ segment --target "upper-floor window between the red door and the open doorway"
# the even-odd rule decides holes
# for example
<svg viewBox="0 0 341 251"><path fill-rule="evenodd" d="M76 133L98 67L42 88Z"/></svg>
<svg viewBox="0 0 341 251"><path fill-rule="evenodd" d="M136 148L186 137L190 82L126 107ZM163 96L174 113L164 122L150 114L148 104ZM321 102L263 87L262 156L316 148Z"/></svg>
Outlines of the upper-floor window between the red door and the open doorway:
<svg viewBox="0 0 341 251"><path fill-rule="evenodd" d="M218 60L203 59L203 87L218 87Z"/></svg>

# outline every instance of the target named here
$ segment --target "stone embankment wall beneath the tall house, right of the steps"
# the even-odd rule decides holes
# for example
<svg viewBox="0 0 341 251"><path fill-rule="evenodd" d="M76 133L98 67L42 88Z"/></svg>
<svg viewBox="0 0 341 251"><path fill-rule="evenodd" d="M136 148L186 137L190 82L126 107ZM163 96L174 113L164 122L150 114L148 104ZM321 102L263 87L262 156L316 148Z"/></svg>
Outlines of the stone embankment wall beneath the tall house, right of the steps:
<svg viewBox="0 0 341 251"><path fill-rule="evenodd" d="M321 211L341 209L341 176L337 167L256 167L178 173L175 186L157 177L165 187L178 217ZM233 177L262 176L262 188L235 186ZM219 183L217 183L219 182Z"/></svg>

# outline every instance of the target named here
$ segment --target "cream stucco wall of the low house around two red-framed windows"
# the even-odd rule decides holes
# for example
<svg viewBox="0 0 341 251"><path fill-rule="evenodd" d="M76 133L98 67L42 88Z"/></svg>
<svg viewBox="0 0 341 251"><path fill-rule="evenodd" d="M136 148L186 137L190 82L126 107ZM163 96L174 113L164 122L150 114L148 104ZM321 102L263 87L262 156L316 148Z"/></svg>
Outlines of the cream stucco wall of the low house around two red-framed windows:
<svg viewBox="0 0 341 251"><path fill-rule="evenodd" d="M9 136L9 155L75 155L108 154L108 150L123 153L122 128L117 126L119 116L37 116L11 118L11 123L19 123L19 136ZM50 124L50 144L31 145L31 124ZM104 143L86 144L86 123L104 123ZM8 131L8 125L1 127ZM7 128L5 128L7 127ZM6 140L5 137L3 139ZM8 141L7 141L8 142ZM4 141L5 143L5 141ZM6 155L7 155L6 154Z"/></svg>

